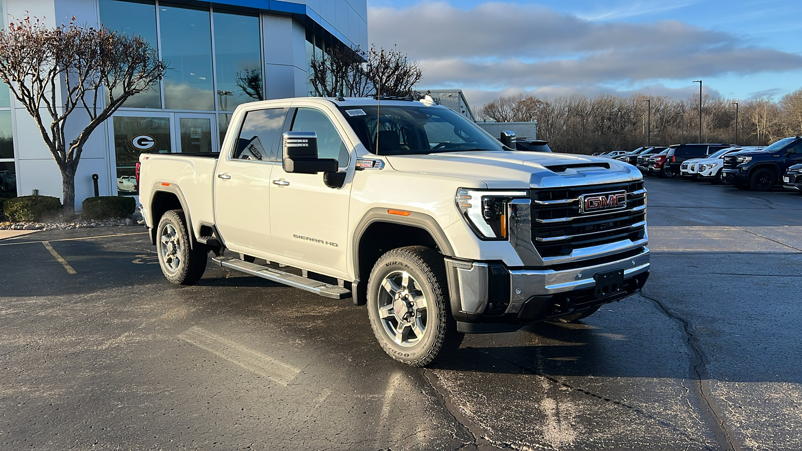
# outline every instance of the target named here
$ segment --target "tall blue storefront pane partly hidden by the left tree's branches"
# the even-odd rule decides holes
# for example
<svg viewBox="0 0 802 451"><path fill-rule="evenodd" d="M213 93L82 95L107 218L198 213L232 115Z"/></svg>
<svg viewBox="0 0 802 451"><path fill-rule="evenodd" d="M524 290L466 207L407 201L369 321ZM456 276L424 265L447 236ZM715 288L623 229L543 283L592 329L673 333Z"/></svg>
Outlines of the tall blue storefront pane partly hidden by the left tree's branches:
<svg viewBox="0 0 802 451"><path fill-rule="evenodd" d="M124 1L99 0L100 22L108 30L124 35L140 35L156 48L156 2L152 0ZM148 91L134 95L125 101L125 108L161 108L159 82Z"/></svg>

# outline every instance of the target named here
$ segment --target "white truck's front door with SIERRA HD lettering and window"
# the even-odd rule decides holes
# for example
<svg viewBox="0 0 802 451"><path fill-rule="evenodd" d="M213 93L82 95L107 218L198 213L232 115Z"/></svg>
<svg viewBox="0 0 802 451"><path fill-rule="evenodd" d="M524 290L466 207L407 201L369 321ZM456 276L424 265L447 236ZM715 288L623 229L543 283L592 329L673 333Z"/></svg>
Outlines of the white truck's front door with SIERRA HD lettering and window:
<svg viewBox="0 0 802 451"><path fill-rule="evenodd" d="M298 108L291 130L318 134L318 157L335 158L340 170L349 165L348 146L326 113ZM287 173L282 165L270 176L270 230L276 254L296 264L346 278L350 181L332 189L323 174ZM314 269L313 269L314 270Z"/></svg>

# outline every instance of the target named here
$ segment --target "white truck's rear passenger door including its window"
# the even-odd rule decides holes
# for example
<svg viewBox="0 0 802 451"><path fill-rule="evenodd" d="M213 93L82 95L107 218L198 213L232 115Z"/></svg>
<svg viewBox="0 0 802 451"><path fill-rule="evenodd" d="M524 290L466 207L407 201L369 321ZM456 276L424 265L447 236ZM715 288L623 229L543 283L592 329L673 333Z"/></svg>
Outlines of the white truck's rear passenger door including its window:
<svg viewBox="0 0 802 451"><path fill-rule="evenodd" d="M217 230L225 246L244 254L273 254L270 236L270 186L289 108L245 113L233 148L220 156L214 178Z"/></svg>

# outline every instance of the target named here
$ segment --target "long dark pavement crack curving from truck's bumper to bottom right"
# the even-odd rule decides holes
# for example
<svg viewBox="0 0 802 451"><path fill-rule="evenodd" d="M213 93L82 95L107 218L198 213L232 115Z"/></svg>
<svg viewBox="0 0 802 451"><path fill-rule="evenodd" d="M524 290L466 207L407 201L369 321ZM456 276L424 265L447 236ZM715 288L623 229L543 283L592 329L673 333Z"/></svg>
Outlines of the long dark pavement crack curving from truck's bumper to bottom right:
<svg viewBox="0 0 802 451"><path fill-rule="evenodd" d="M703 352L701 343L699 343L699 339L691 330L691 323L688 323L686 319L670 311L665 303L654 296L648 295L643 290L641 290L641 296L649 299L659 311L662 311L663 314L682 326L680 330L683 333L685 345L690 356L689 364L691 367L691 376L695 378L694 388L696 396L698 396L700 400L699 407L701 408L702 417L707 427L711 429L719 448L728 449L730 451L743 451L743 447L739 445L738 441L735 439L735 434L727 425L723 413L715 403L715 399L713 399L710 384L711 377L709 372L707 372L708 360Z"/></svg>

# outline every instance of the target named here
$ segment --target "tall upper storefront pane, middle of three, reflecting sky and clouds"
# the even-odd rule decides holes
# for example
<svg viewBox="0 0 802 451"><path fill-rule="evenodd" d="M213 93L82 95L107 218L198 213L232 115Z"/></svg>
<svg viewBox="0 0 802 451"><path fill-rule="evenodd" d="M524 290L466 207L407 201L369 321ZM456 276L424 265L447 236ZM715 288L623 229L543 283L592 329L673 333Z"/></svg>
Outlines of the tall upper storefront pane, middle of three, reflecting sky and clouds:
<svg viewBox="0 0 802 451"><path fill-rule="evenodd" d="M209 9L159 4L164 108L214 110L212 28Z"/></svg>

